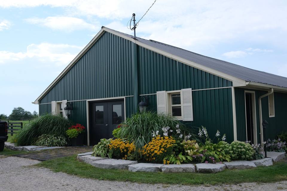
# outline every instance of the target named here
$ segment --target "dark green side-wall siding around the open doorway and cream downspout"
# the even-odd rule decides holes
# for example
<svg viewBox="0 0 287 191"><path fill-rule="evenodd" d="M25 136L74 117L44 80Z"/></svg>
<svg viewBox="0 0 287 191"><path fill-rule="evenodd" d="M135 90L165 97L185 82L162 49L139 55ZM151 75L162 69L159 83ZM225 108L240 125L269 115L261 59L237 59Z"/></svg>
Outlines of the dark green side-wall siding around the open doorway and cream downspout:
<svg viewBox="0 0 287 191"><path fill-rule="evenodd" d="M258 99L260 96L266 94L267 91L235 88L237 139L240 141L246 141L245 90L255 92L257 142L259 143L260 126ZM269 123L268 128L266 129L266 138L274 139L281 131L287 131L287 94L274 92L275 117L269 118L268 96L261 100L262 119Z"/></svg>

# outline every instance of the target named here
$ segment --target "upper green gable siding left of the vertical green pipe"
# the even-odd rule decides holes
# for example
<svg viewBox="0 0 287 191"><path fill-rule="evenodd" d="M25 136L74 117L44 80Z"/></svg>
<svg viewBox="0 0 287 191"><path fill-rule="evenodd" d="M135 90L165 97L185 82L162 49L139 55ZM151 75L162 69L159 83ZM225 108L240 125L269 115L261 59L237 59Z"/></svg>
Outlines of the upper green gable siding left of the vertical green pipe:
<svg viewBox="0 0 287 191"><path fill-rule="evenodd" d="M131 43L105 32L40 103L131 96Z"/></svg>

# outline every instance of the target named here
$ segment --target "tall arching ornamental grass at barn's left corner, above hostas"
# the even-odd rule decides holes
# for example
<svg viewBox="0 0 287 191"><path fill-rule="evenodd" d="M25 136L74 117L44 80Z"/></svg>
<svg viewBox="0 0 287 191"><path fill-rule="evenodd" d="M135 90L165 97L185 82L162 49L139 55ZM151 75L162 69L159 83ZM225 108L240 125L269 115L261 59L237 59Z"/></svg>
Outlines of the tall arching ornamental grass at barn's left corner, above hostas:
<svg viewBox="0 0 287 191"><path fill-rule="evenodd" d="M42 115L36 118L16 134L16 146L31 145L43 134L65 135L73 123L60 115Z"/></svg>

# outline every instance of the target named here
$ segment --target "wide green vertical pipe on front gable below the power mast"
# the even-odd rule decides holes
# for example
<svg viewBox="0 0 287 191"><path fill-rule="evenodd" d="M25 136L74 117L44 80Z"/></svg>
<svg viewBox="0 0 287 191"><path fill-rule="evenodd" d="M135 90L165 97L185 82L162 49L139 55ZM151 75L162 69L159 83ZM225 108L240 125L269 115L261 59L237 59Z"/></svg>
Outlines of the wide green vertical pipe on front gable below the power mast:
<svg viewBox="0 0 287 191"><path fill-rule="evenodd" d="M138 112L138 53L137 44L132 42L132 84L133 84L133 113Z"/></svg>

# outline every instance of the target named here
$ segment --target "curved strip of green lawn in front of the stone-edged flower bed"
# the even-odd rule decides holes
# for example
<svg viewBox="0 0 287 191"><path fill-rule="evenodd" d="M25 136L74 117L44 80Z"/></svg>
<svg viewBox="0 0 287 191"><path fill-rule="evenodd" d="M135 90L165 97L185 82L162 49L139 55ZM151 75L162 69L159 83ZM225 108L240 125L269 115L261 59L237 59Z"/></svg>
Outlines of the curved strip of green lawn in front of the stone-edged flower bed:
<svg viewBox="0 0 287 191"><path fill-rule="evenodd" d="M35 166L46 167L54 172L65 172L83 178L151 184L237 184L287 180L287 163L285 162L277 162L270 167L257 167L248 170L224 170L217 174L129 172L128 170L99 169L77 161L76 155L44 161Z"/></svg>

